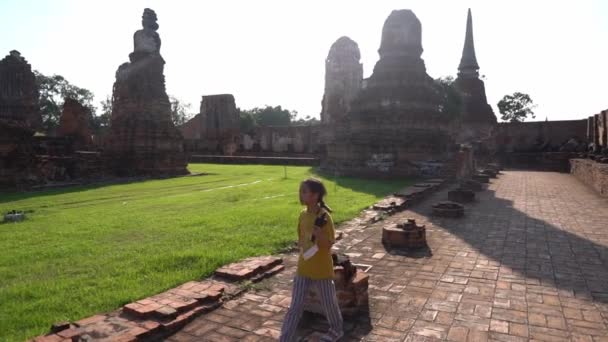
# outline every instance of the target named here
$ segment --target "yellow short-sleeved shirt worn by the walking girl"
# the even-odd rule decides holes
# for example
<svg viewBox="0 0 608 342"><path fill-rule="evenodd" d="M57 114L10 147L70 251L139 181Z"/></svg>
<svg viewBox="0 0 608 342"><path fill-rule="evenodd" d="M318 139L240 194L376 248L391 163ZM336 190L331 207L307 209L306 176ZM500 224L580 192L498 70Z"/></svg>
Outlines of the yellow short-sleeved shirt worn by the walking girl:
<svg viewBox="0 0 608 342"><path fill-rule="evenodd" d="M321 228L327 234L327 239L333 243L335 241L334 222L325 209L321 209L318 214L309 213L304 209L300 213L298 222L298 237L301 246L300 258L298 260L298 275L314 280L334 278L334 263L331 259L331 248L326 250L319 248L319 251L308 260L304 260L302 256L304 251L315 244L315 242L310 241L313 227L317 216L321 216L323 213L326 213L327 223Z"/></svg>

